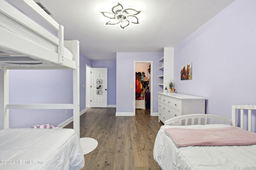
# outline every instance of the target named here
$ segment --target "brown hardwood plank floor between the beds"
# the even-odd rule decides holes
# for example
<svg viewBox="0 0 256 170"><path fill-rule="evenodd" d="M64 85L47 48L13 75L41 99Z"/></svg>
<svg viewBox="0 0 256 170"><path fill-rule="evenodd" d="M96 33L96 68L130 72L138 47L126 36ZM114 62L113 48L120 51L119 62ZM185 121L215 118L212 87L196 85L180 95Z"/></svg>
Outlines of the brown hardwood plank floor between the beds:
<svg viewBox="0 0 256 170"><path fill-rule="evenodd" d="M136 109L136 116L116 116L116 108L90 108L81 115L80 137L98 141L97 148L84 155L82 170L161 170L153 148L163 124L143 111ZM65 128L72 127L70 123Z"/></svg>

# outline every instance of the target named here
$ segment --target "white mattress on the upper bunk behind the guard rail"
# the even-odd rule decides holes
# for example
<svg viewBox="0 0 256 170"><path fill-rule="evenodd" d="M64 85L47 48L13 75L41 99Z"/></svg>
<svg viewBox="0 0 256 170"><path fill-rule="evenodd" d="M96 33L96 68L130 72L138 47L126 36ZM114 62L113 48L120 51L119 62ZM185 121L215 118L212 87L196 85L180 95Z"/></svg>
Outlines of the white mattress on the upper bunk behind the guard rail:
<svg viewBox="0 0 256 170"><path fill-rule="evenodd" d="M54 52L58 52L58 46L54 43L51 43L50 41L46 40L44 37L38 35L34 31L31 31L30 29L26 28L25 26L21 25L20 23L12 20L11 18L5 16L0 12L0 27L10 31L16 35L19 35L20 37L23 37L29 41L32 41L38 45L41 45L42 47L45 47L46 49L49 49ZM12 41L12 40L10 40ZM0 49L0 51L4 51L4 49ZM6 53L11 54L12 52L6 51ZM64 57L73 60L74 56L72 53L64 47Z"/></svg>

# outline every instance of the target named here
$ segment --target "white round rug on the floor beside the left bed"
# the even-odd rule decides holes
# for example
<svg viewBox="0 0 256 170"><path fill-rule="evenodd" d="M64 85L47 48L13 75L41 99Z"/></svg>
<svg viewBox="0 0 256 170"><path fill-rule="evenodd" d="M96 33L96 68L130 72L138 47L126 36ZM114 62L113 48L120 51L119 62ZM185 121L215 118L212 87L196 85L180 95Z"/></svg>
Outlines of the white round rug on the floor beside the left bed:
<svg viewBox="0 0 256 170"><path fill-rule="evenodd" d="M98 146L98 141L90 137L81 137L80 144L83 150L83 154L88 154Z"/></svg>

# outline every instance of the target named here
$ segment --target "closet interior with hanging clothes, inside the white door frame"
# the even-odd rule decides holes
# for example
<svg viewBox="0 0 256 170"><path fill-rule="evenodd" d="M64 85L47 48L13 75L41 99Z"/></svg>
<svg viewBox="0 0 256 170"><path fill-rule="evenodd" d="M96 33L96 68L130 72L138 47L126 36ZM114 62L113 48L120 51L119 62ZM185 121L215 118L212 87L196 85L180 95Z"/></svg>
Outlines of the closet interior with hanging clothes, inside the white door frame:
<svg viewBox="0 0 256 170"><path fill-rule="evenodd" d="M150 64L135 63L135 108L150 112ZM147 110L145 110L146 112ZM137 112L137 111L136 111ZM137 113L136 113L137 114Z"/></svg>

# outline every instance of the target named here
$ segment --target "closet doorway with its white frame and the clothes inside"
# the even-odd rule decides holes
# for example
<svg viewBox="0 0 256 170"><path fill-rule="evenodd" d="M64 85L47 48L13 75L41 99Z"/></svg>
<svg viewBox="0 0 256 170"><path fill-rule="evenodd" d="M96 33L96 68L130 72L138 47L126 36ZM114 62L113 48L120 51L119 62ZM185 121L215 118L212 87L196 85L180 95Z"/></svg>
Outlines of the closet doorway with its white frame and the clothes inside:
<svg viewBox="0 0 256 170"><path fill-rule="evenodd" d="M153 115L153 61L134 61L134 115ZM136 93L136 72L142 74L142 92Z"/></svg>

